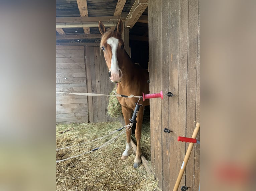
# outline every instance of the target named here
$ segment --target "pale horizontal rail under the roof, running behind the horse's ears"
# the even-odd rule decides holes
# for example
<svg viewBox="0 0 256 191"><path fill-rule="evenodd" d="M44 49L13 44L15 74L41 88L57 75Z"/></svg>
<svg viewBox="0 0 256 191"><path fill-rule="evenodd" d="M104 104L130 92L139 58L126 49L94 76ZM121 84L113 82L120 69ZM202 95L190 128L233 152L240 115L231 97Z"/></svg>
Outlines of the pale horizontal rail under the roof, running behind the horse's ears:
<svg viewBox="0 0 256 191"><path fill-rule="evenodd" d="M116 21L102 22L105 27L116 26ZM69 22L69 23L56 23L56 28L81 28L81 27L98 27L99 22Z"/></svg>

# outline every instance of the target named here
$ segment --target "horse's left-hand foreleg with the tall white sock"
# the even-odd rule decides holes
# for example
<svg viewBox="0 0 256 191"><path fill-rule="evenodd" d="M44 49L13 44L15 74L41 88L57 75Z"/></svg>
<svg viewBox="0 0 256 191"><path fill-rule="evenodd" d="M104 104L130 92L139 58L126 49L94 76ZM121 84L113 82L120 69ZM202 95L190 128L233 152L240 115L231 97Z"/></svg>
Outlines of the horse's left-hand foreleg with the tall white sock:
<svg viewBox="0 0 256 191"><path fill-rule="evenodd" d="M129 119L131 118L132 109L122 106L122 113L124 115L125 125L128 125L130 123ZM122 154L122 157L121 157L122 160L125 160L128 158L132 148L131 132L132 132L131 128L128 131L126 131L126 148Z"/></svg>

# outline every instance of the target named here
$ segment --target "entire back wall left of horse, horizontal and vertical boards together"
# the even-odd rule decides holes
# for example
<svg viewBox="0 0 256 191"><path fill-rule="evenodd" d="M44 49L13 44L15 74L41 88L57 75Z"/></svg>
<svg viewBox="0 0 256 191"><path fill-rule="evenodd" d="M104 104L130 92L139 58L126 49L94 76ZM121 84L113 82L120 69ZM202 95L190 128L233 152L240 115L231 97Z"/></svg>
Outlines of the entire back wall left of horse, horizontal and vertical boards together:
<svg viewBox="0 0 256 191"><path fill-rule="evenodd" d="M98 44L56 46L56 92L109 94L115 84ZM56 123L108 122L108 96L56 94Z"/></svg>

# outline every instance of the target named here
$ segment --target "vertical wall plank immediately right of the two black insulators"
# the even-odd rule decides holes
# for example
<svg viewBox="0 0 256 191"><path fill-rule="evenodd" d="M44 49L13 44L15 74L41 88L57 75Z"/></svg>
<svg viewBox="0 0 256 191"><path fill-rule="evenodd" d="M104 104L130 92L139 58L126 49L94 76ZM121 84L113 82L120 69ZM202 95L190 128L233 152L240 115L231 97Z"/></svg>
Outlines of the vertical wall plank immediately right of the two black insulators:
<svg viewBox="0 0 256 191"><path fill-rule="evenodd" d="M179 43L180 43L180 1L170 0L171 5L169 16L169 91L174 95L169 97L169 129L174 131L169 134L169 182L172 190L176 178L178 176L180 165L183 162L185 144L178 142L177 136L179 135L179 128L184 130L184 127L179 127ZM181 180L181 185L184 184L185 178Z"/></svg>

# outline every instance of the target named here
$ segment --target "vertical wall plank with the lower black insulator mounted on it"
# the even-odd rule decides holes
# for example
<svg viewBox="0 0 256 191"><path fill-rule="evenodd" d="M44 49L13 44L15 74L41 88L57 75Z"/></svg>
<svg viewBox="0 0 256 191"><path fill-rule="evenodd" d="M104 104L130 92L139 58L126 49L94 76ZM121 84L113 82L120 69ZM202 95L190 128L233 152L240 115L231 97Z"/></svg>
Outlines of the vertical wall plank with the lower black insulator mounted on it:
<svg viewBox="0 0 256 191"><path fill-rule="evenodd" d="M169 0L162 0L160 4L161 10L161 33L158 34L162 42L161 51L161 91L164 94L169 92ZM159 99L159 98L158 98ZM163 127L172 129L169 125L169 98L164 97L162 104L162 190L170 190L170 163L169 155L172 154L171 145L169 143L170 133L163 132Z"/></svg>

